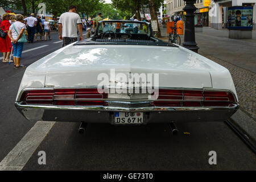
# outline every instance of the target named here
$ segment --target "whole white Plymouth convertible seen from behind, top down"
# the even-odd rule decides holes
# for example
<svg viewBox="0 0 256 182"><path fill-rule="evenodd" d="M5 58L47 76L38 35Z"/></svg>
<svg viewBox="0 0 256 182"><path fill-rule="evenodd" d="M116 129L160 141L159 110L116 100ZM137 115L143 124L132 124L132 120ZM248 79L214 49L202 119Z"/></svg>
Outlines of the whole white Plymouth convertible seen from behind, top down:
<svg viewBox="0 0 256 182"><path fill-rule="evenodd" d="M15 105L30 121L113 125L224 121L239 106L228 69L128 20L27 67Z"/></svg>

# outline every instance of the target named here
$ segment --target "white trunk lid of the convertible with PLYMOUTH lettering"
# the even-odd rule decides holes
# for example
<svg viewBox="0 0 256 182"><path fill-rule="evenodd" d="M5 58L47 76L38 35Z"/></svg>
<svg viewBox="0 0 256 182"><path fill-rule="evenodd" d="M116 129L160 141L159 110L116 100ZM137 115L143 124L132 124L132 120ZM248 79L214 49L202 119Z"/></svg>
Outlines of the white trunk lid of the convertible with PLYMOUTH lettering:
<svg viewBox="0 0 256 182"><path fill-rule="evenodd" d="M212 88L213 68L200 56L179 47L68 46L38 68L46 69L45 86L97 86L102 81L98 76L103 73L110 80L114 69L115 76L123 73L127 78L130 73L158 73L162 87Z"/></svg>

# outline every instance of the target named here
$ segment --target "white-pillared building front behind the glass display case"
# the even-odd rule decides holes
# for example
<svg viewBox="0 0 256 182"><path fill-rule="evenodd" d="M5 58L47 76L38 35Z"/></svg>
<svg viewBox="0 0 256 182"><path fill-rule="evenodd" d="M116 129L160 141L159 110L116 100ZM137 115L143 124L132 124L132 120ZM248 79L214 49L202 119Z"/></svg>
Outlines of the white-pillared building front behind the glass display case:
<svg viewBox="0 0 256 182"><path fill-rule="evenodd" d="M216 29L228 28L228 8L232 6L253 7L253 29L255 30L256 0L214 0L209 5L210 26Z"/></svg>

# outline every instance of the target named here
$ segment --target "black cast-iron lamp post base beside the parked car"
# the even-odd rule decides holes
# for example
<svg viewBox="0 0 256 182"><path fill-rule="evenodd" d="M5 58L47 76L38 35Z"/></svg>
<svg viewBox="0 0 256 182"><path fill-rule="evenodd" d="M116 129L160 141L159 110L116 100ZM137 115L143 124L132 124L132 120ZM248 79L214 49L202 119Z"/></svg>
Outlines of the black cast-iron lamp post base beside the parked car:
<svg viewBox="0 0 256 182"><path fill-rule="evenodd" d="M186 2L183 10L186 12L185 15L185 34L184 34L184 42L183 47L190 49L197 53L199 47L197 47L197 43L195 40L195 19L194 12L196 11L196 7L194 3L196 0L183 0Z"/></svg>

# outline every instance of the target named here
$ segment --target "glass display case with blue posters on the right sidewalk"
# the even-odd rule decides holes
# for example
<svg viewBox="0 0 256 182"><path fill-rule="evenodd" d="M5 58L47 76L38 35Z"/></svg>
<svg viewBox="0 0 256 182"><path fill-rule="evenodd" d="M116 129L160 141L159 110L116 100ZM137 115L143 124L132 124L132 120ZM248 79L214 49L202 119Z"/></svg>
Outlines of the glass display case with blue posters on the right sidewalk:
<svg viewBox="0 0 256 182"><path fill-rule="evenodd" d="M253 7L233 6L228 9L228 28L231 30L253 29Z"/></svg>

